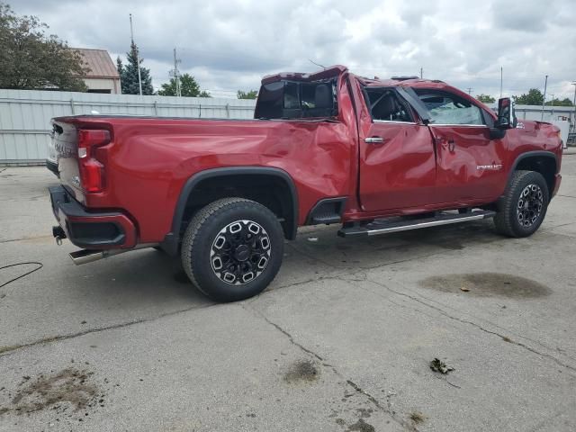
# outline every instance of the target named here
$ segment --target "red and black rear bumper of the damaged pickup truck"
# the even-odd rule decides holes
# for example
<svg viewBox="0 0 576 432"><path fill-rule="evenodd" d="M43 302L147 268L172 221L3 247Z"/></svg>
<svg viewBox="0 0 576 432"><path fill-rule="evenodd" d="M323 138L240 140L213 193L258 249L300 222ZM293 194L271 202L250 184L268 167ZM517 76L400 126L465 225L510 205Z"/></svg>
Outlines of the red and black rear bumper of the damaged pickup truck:
<svg viewBox="0 0 576 432"><path fill-rule="evenodd" d="M88 212L63 186L49 187L52 212L66 237L85 249L136 246L136 227L120 211Z"/></svg>

